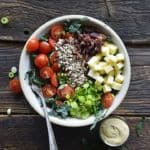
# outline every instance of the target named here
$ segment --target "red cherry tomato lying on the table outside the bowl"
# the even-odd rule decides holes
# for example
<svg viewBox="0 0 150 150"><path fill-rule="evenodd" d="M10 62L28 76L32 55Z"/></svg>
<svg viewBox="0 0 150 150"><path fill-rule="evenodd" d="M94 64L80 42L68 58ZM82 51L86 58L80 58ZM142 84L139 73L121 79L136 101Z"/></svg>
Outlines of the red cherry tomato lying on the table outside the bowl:
<svg viewBox="0 0 150 150"><path fill-rule="evenodd" d="M21 92L20 81L18 79L12 79L9 81L9 88L12 92L18 94Z"/></svg>

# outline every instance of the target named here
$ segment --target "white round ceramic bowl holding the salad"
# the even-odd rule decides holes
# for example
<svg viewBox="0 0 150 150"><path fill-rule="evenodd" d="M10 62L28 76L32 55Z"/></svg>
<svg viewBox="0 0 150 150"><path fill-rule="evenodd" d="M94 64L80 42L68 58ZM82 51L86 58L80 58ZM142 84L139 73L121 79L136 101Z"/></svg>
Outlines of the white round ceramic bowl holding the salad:
<svg viewBox="0 0 150 150"><path fill-rule="evenodd" d="M129 88L129 83L130 83L130 76L131 76L131 68L130 68L130 60L129 56L127 53L127 50L120 39L120 37L116 34L116 32L111 29L108 25L106 25L104 22L94 19L89 16L82 16L82 15L66 15L62 17L58 17L55 19L52 19L42 26L40 26L31 36L28 40L30 40L33 37L38 37L40 34L47 33L50 29L50 27L53 24L56 24L58 22L63 22L67 19L88 19L88 22L90 24L94 24L98 26L104 33L107 35L110 35L112 37L113 42L118 46L119 50L121 53L124 54L125 56L125 68L124 68L124 76L125 76L125 81L123 83L123 86L120 90L120 92L116 95L115 100L112 104L112 106L108 109L107 113L105 114L105 118L110 115L123 101L128 88ZM28 81L25 80L25 74L27 71L30 70L30 63L29 63L29 55L26 52L26 45L23 48L23 51L21 53L20 57L20 63L19 63L19 75L20 75L20 82L21 82L21 87L23 90L23 93L27 99L27 101L30 103L30 105L34 108L34 110L39 113L41 116L44 116L44 113L42 111L42 108L40 107L38 99L35 97L34 93L32 92ZM67 119L61 119L57 118L54 116L49 117L50 120L58 125L62 126L68 126L68 127L81 127L81 126L87 126L93 123L95 116L91 116L88 119L81 120L81 119L75 119L75 118L67 118Z"/></svg>

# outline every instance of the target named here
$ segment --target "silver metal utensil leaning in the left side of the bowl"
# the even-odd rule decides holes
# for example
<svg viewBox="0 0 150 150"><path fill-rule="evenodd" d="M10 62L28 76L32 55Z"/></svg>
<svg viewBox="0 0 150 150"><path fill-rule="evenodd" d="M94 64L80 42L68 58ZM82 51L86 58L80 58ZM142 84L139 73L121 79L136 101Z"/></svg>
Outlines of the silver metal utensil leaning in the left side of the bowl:
<svg viewBox="0 0 150 150"><path fill-rule="evenodd" d="M43 97L43 93L42 93L41 89L35 85L32 85L31 89L40 98L42 105L43 105L44 116L46 119L46 124L47 124L47 129L48 129L49 148L50 148L50 150L58 150L54 131L53 131L53 128L52 128L52 125L51 125L51 122L49 120L49 116L47 113L47 107L46 107L45 99Z"/></svg>

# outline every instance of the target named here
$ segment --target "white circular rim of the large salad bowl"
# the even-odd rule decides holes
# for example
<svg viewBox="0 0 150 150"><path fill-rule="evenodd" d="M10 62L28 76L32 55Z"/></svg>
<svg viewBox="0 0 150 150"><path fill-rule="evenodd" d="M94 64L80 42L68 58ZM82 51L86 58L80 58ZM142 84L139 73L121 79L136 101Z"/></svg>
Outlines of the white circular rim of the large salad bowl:
<svg viewBox="0 0 150 150"><path fill-rule="evenodd" d="M105 24L103 21L101 20L98 20L98 19L95 19L93 17L90 17L90 16L85 16L85 15L64 15L64 16L60 16L60 17L57 17L57 18L54 18L54 19L51 19L49 21L47 21L46 23L44 23L43 25L41 25L39 28L37 28L33 34L28 38L28 40L26 41L26 44L27 42L33 38L33 37L36 37L40 34L40 32L44 31L46 28L52 26L53 24L56 24L58 22L61 22L61 21L65 21L65 20L72 20L72 19L83 19L83 18L87 18L90 22L94 22L94 24L97 24L98 26L101 26L103 27L105 30L107 30L109 33L111 33L118 41L118 43L120 44L120 47L123 49L124 51L124 54L126 56L126 69L128 71L128 74L126 75L126 82L123 83L123 94L120 95L120 101L117 103L117 104L113 104L109 109L108 111L106 112L105 114L105 117L106 118L107 116L109 116L119 105L120 103L123 101L124 97L126 96L126 93L128 91L128 88L129 88L129 84L130 84L130 79L131 79L131 65L130 65L130 59L129 59L129 56L128 56L128 53L127 53L127 49L123 43L123 41L121 40L121 38L118 36L118 34L111 28L109 27L107 24ZM23 63L23 58L24 58L24 55L26 53L26 44L22 50L22 53L21 53L21 56L20 56L20 61L19 61L19 78L20 78L20 83L21 83L21 88L22 88L22 91L25 95L25 98L27 99L28 103L32 106L32 108L38 113L40 114L42 117L44 117L44 113L42 111L42 108L40 106L38 106L39 104L35 104L33 103L33 101L31 99L33 99L33 93L29 93L27 92L26 90L26 86L24 84L24 74L22 72L22 66L24 65ZM121 92L121 90L119 91L119 93ZM119 94L118 93L118 94ZM30 95L31 94L31 95ZM117 94L117 95L118 95ZM117 99L115 97L115 99ZM114 100L115 101L115 100ZM92 115L90 116L88 119L85 119L85 120L81 120L81 119L74 119L74 118L67 118L67 119L61 119L61 118L58 118L58 117L54 117L54 116L49 116L49 119L57 124L57 125L61 125L61 126L67 126L67 127L81 127L81 126L87 126L87 125L90 125L94 122L94 119L95 119L95 116ZM69 121L68 121L69 120Z"/></svg>

